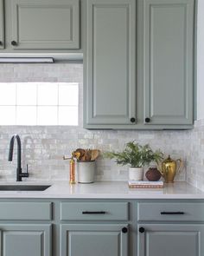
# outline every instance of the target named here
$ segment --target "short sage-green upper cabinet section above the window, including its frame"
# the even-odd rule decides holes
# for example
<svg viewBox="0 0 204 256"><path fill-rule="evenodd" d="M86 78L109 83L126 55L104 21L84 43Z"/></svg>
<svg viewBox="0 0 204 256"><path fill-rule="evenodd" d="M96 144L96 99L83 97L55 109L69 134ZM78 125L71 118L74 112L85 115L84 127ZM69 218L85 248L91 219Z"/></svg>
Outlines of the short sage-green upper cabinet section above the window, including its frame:
<svg viewBox="0 0 204 256"><path fill-rule="evenodd" d="M78 53L80 42L80 0L0 0L0 36L5 31L3 53ZM82 25L83 27L84 25ZM84 29L83 29L84 30Z"/></svg>

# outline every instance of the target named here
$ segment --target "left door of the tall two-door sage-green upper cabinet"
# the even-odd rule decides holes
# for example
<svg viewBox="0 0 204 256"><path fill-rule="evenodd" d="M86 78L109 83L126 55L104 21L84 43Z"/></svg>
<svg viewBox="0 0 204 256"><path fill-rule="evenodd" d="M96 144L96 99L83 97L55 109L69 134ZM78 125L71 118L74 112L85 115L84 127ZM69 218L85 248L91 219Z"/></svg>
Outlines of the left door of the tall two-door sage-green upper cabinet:
<svg viewBox="0 0 204 256"><path fill-rule="evenodd" d="M135 0L87 0L85 127L135 124L135 13Z"/></svg>

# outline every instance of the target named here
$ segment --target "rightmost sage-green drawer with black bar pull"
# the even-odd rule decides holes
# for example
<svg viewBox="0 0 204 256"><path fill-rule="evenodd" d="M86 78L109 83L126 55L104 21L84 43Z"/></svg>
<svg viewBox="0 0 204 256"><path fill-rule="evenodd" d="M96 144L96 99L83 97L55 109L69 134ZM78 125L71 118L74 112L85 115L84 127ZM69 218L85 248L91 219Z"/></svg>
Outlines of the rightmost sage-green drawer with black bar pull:
<svg viewBox="0 0 204 256"><path fill-rule="evenodd" d="M139 203L138 220L204 221L204 203Z"/></svg>

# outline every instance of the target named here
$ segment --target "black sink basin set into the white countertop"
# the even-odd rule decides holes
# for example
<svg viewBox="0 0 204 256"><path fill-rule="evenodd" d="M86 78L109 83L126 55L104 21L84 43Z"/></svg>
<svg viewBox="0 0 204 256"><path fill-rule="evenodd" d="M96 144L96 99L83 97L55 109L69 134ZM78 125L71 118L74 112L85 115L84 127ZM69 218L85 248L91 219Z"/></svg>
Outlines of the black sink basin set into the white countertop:
<svg viewBox="0 0 204 256"><path fill-rule="evenodd" d="M50 185L0 185L0 191L44 191Z"/></svg>

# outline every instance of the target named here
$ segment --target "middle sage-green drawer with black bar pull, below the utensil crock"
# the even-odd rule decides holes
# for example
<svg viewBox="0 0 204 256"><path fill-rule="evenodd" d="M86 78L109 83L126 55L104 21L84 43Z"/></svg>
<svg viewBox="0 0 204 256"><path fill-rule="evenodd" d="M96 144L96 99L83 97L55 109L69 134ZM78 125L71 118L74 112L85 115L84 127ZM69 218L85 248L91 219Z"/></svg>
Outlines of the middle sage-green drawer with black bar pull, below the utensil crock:
<svg viewBox="0 0 204 256"><path fill-rule="evenodd" d="M62 202L61 220L128 220L128 203Z"/></svg>

